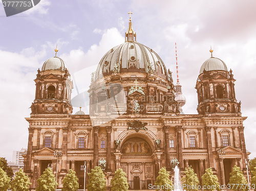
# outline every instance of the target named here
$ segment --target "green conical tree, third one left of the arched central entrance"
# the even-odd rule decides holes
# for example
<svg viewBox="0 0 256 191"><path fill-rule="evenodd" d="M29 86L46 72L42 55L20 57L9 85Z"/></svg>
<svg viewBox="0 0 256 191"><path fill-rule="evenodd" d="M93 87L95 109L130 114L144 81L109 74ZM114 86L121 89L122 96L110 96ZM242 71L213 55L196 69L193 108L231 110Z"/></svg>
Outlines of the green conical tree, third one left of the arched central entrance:
<svg viewBox="0 0 256 191"><path fill-rule="evenodd" d="M76 172L70 169L69 174L65 176L65 178L62 181L62 184L62 191L76 191L79 188Z"/></svg>

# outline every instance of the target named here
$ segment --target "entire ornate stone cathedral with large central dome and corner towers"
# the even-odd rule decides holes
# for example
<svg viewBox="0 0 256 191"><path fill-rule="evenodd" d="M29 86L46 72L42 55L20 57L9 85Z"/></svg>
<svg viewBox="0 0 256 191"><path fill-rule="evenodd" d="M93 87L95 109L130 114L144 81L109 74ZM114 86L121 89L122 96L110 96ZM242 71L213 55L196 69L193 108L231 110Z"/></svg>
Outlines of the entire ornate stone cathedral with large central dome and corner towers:
<svg viewBox="0 0 256 191"><path fill-rule="evenodd" d="M234 165L246 176L246 117L236 100L232 70L213 57L212 50L195 79L198 114L182 111L186 99L179 79L174 84L158 54L137 42L131 17L124 43L109 50L92 74L89 114L81 108L72 114L73 82L57 48L55 52L38 69L35 99L26 118L24 168L32 190L49 166L58 188L73 169L83 189L90 170L100 165L107 186L122 168L130 189L147 189L163 166L173 179L175 158L181 173L191 165L200 181L210 167L221 185L229 181Z"/></svg>

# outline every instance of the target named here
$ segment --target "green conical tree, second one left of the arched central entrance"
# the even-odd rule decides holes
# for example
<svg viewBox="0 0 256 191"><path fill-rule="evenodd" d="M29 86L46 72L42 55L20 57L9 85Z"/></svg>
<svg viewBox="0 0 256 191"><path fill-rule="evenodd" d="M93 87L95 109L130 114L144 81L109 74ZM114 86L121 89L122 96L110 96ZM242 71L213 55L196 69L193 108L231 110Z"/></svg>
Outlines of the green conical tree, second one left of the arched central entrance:
<svg viewBox="0 0 256 191"><path fill-rule="evenodd" d="M91 173L88 173L88 191L105 191L106 190L106 180L104 179L104 174L99 166L95 166Z"/></svg>

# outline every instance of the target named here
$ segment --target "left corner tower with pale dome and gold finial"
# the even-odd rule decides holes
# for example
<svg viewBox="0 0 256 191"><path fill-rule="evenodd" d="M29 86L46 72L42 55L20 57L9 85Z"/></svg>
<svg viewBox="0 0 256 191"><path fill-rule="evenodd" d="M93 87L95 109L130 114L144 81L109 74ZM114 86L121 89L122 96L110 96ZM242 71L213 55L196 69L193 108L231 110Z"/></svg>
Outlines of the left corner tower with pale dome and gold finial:
<svg viewBox="0 0 256 191"><path fill-rule="evenodd" d="M73 82L65 62L57 57L49 58L38 68L35 85L35 100L31 105L31 114L71 114L71 92Z"/></svg>

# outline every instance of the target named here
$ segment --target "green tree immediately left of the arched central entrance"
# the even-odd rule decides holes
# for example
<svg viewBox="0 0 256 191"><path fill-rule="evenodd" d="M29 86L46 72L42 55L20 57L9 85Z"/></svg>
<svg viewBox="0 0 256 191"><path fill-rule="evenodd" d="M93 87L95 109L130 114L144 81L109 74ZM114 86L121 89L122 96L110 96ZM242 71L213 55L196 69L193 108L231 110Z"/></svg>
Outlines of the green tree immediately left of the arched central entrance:
<svg viewBox="0 0 256 191"><path fill-rule="evenodd" d="M127 182L126 174L122 169L117 169L114 178L111 179L110 185L113 191L127 191L129 184Z"/></svg>

